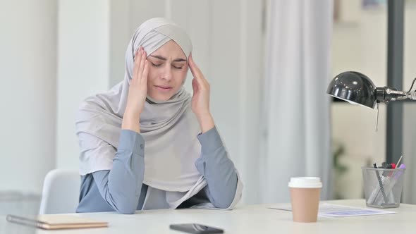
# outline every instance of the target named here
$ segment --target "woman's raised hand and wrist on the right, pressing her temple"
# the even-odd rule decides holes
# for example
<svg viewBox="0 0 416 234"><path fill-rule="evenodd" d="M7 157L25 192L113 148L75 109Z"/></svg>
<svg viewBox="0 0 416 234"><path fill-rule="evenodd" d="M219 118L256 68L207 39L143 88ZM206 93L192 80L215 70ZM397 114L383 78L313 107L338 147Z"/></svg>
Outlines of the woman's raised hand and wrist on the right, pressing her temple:
<svg viewBox="0 0 416 234"><path fill-rule="evenodd" d="M190 54L188 60L190 71L194 77L192 79L192 89L194 92L192 96L192 111L197 116L202 133L205 133L214 128L214 119L212 118L211 111L209 111L210 87L200 68L193 61L192 54Z"/></svg>

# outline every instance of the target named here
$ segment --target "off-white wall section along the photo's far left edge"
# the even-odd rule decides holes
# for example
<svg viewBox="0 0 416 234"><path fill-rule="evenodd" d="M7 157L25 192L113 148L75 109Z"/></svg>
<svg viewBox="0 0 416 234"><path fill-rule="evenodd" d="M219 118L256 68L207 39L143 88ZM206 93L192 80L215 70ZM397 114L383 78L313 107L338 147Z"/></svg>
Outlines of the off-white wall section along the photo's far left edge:
<svg viewBox="0 0 416 234"><path fill-rule="evenodd" d="M55 166L56 1L0 1L0 191L39 193Z"/></svg>

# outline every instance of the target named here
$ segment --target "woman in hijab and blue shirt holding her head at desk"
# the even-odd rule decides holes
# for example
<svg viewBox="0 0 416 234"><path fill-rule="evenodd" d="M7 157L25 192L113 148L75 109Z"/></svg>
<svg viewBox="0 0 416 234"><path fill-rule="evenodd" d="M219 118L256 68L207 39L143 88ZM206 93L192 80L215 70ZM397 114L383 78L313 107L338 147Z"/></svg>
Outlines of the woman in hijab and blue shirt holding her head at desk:
<svg viewBox="0 0 416 234"><path fill-rule="evenodd" d="M76 129L77 212L232 209L243 185L209 111L209 84L186 32L164 18L140 25L123 82L85 99ZM193 96L183 88L188 66Z"/></svg>

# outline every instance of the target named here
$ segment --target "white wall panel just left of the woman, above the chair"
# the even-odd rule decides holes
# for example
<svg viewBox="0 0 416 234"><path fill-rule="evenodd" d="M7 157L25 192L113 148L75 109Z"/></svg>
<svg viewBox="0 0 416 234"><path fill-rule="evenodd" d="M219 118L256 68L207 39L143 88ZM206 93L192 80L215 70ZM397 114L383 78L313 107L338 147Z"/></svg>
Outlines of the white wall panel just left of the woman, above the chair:
<svg viewBox="0 0 416 234"><path fill-rule="evenodd" d="M78 170L75 113L109 88L110 1L61 0L58 25L56 166Z"/></svg>

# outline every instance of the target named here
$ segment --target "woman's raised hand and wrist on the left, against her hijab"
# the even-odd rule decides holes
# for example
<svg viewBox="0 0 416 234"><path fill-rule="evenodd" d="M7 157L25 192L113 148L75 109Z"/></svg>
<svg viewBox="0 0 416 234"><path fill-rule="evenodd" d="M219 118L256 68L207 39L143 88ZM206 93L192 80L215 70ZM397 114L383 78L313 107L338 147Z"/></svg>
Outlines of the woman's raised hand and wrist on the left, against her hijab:
<svg viewBox="0 0 416 234"><path fill-rule="evenodd" d="M143 47L137 49L133 67L133 78L130 80L126 111L124 111L122 129L140 133L140 113L145 107L147 97L147 74L149 65Z"/></svg>

